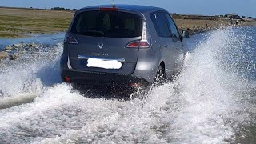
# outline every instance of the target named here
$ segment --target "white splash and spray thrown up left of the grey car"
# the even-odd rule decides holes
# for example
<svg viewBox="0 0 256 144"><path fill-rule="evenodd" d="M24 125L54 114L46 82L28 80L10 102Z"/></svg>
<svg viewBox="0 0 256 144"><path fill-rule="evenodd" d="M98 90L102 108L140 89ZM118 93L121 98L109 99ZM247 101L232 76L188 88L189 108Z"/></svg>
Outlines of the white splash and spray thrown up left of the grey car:
<svg viewBox="0 0 256 144"><path fill-rule="evenodd" d="M45 86L61 82L59 58L62 45L23 51L17 61L5 60L0 66L0 97L19 94L40 94Z"/></svg>

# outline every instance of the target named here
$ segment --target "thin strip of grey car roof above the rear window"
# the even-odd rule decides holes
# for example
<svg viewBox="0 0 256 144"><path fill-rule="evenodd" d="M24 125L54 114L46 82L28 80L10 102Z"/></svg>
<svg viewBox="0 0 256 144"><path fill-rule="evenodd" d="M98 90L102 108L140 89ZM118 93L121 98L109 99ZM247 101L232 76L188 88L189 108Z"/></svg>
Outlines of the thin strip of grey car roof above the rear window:
<svg viewBox="0 0 256 144"><path fill-rule="evenodd" d="M86 10L86 9L97 9L99 7L104 7L104 8L112 8L113 5L98 5L98 6L88 6L85 8L82 8L81 10ZM154 6L140 6L140 5L123 5L123 4L117 4L115 5L117 9L120 10L132 10L132 11L138 11L140 13L146 13L150 11L157 11L157 10L165 10L159 7L154 7Z"/></svg>

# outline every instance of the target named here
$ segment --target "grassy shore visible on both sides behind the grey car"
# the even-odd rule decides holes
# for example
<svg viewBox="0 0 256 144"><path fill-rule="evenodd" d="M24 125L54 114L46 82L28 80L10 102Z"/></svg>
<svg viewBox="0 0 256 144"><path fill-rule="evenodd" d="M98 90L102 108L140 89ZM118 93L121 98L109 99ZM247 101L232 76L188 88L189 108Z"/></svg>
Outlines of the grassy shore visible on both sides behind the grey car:
<svg viewBox="0 0 256 144"><path fill-rule="evenodd" d="M73 15L72 11L0 8L0 38L20 38L29 34L65 31ZM230 20L225 18L197 18L194 15L186 15L185 18L184 15L176 16L174 20L180 30L188 30L190 34L230 25ZM256 24L246 22L242 25Z"/></svg>

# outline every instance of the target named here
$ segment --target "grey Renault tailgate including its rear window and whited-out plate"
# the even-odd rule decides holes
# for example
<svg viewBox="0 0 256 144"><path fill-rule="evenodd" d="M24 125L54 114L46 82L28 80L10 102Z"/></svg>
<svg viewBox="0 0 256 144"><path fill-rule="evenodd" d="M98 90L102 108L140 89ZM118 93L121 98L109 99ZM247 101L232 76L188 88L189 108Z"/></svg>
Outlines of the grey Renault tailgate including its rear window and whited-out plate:
<svg viewBox="0 0 256 144"><path fill-rule="evenodd" d="M134 72L138 49L126 45L142 36L142 18L137 14L117 10L90 10L77 14L70 37L78 44L69 44L70 64L74 70L118 74ZM102 60L98 66L88 65L88 59ZM117 61L121 67L108 67ZM97 63L97 62L96 62ZM97 64L96 64L97 65Z"/></svg>

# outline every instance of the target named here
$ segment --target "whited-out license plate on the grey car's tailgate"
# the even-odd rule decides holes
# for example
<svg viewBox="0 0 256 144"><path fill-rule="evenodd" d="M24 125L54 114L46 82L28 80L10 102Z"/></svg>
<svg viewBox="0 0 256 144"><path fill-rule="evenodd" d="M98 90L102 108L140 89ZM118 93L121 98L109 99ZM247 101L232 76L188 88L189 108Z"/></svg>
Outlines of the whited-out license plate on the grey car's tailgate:
<svg viewBox="0 0 256 144"><path fill-rule="evenodd" d="M103 60L98 58L89 58L87 60L87 67L98 67L103 69L120 69L122 63L117 60Z"/></svg>

